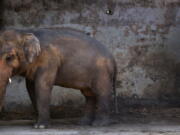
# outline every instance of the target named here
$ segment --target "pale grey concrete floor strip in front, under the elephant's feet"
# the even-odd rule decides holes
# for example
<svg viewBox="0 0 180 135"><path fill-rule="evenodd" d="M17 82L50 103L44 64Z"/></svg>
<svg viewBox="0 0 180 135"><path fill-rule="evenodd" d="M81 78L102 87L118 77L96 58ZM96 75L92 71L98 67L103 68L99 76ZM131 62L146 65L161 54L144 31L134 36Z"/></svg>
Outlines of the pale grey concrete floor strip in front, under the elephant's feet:
<svg viewBox="0 0 180 135"><path fill-rule="evenodd" d="M147 124L115 124L108 127L78 126L53 123L50 129L33 129L32 121L1 121L0 135L180 135L178 124L154 122Z"/></svg>

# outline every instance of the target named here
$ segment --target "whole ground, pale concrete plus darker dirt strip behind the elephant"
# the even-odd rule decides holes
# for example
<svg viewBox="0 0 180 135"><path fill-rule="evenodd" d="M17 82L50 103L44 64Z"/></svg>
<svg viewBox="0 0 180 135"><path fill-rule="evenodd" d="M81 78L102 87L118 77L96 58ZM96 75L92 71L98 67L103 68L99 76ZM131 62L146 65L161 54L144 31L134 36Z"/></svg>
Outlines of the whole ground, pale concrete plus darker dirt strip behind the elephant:
<svg viewBox="0 0 180 135"><path fill-rule="evenodd" d="M180 135L180 109L128 109L104 127L80 126L79 118L53 119L49 129L33 129L34 120L1 120L0 135Z"/></svg>

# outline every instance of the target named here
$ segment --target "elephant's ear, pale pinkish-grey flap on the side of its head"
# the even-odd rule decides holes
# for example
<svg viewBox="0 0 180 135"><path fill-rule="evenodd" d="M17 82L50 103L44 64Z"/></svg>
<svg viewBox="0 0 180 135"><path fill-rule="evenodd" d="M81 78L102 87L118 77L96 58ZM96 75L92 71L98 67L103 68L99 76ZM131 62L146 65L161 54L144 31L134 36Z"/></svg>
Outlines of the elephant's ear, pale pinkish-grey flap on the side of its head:
<svg viewBox="0 0 180 135"><path fill-rule="evenodd" d="M38 38L32 33L26 33L23 35L23 49L24 54L29 63L40 54L41 47Z"/></svg>

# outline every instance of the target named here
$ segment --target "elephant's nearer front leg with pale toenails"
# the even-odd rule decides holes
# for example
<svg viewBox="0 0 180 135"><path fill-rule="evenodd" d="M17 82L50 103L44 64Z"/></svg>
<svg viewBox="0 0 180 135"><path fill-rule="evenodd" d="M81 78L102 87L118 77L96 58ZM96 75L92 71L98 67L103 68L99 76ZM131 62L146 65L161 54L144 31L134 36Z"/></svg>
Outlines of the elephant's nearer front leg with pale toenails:
<svg viewBox="0 0 180 135"><path fill-rule="evenodd" d="M38 121L35 128L47 128L49 125L50 98L53 83L56 77L56 69L40 68L35 79L35 91L38 111Z"/></svg>

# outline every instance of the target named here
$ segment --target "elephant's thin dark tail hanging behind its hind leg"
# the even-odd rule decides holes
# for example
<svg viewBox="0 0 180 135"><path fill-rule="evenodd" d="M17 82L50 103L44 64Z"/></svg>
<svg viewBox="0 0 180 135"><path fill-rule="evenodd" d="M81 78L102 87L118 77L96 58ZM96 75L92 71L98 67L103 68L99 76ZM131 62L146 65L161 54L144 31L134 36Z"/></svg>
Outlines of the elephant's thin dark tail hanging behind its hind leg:
<svg viewBox="0 0 180 135"><path fill-rule="evenodd" d="M114 111L115 113L118 113L118 102L117 102L117 92L116 92L116 79L117 79L117 65L114 61L114 73L113 73L113 94L114 94Z"/></svg>

